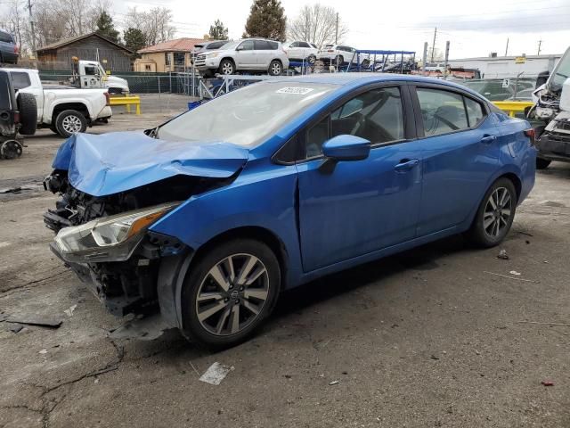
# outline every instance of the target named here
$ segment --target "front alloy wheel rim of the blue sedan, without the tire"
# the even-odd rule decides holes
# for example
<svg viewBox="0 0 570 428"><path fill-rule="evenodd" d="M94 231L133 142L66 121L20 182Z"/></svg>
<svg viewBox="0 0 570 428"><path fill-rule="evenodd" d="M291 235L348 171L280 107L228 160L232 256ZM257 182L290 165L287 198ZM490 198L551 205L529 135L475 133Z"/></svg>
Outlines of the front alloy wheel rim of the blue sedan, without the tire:
<svg viewBox="0 0 570 428"><path fill-rule="evenodd" d="M208 271L199 285L196 316L208 333L227 336L251 325L269 297L269 275L260 259L232 254Z"/></svg>

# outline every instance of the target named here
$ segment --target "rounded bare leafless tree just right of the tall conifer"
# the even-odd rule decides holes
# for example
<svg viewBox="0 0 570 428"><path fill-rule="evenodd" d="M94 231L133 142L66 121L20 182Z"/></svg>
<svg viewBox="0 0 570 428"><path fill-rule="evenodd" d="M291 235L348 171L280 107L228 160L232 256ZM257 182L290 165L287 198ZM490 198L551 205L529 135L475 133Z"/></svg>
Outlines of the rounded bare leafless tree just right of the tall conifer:
<svg viewBox="0 0 570 428"><path fill-rule="evenodd" d="M311 42L319 48L335 43L335 39L340 43L347 33L348 29L340 19L337 29L337 12L319 3L303 6L287 29L289 39Z"/></svg>

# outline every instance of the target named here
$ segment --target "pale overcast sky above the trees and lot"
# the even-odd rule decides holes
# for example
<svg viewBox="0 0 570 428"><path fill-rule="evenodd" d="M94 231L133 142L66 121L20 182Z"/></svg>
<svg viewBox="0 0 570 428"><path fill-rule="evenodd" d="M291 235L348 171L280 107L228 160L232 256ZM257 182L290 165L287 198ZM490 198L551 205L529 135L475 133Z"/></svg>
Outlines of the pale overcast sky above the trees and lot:
<svg viewBox="0 0 570 428"><path fill-rule="evenodd" d="M114 12L129 7L139 10L164 6L173 11L176 37L202 37L219 19L231 38L240 38L252 0L136 0L116 3ZM564 53L570 45L570 0L322 0L333 7L348 33L343 40L357 49L416 51L420 57L424 42L432 45L437 27L436 48L444 51L449 40L450 58L504 55L509 38L509 55ZM305 0L281 0L289 20L294 19Z"/></svg>

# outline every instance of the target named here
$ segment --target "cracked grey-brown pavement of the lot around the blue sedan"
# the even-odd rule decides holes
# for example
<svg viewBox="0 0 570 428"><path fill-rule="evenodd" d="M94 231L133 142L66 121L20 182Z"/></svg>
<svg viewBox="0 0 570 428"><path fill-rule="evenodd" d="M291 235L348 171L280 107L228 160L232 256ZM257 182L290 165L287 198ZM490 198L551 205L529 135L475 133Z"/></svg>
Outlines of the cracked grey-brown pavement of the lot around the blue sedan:
<svg viewBox="0 0 570 428"><path fill-rule="evenodd" d="M186 101L148 96L142 116L89 132L151 127ZM107 337L120 321L47 247L56 198L39 184L61 138L27 144L0 161L0 189L22 187L0 193L0 321L64 321L19 333L0 322L0 427L570 426L570 165L538 173L501 247L458 236L307 284L256 338L213 354L174 331ZM216 361L234 370L199 382Z"/></svg>

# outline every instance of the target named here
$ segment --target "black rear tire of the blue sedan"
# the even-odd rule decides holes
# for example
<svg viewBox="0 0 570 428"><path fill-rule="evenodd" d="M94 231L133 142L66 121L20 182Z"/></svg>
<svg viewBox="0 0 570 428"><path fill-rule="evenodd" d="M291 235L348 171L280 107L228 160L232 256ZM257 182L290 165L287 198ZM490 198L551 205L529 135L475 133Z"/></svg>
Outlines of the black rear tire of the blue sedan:
<svg viewBox="0 0 570 428"><path fill-rule="evenodd" d="M501 204L497 204L497 200L493 199L493 202L498 207L496 210L493 210L493 202L490 202L491 196L493 195L494 198L494 195L496 194L498 196L499 202L501 202L502 190L508 192L509 194L509 206L504 206L501 208ZM505 214L506 210L509 210L508 217ZM489 187L489 190L487 190L485 193L485 197L483 198L483 201L479 205L479 208L476 212L473 224L468 230L468 238L471 240L471 242L483 248L490 248L500 244L505 236L509 233L510 226L512 226L513 219L515 218L516 210L517 189L515 188L515 185L513 185L513 182L509 180L509 178L501 177L495 181L493 185ZM493 211L493 214L490 214L490 211ZM490 215L492 217L489 217ZM492 223L488 224L488 226L485 227L485 223L488 223L489 220L491 220ZM495 224L499 225L498 230L494 228Z"/></svg>

